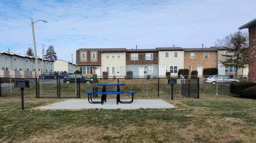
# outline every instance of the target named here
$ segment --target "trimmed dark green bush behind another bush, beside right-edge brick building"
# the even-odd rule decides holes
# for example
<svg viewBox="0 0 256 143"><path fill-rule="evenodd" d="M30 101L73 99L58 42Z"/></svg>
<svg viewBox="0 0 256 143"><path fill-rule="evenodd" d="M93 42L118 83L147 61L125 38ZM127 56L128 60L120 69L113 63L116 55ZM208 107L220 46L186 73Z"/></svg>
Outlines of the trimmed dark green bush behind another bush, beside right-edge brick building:
<svg viewBox="0 0 256 143"><path fill-rule="evenodd" d="M250 83L250 82L232 83L230 84L230 92L233 94L243 96L244 89L247 89L252 86L256 86L256 83Z"/></svg>

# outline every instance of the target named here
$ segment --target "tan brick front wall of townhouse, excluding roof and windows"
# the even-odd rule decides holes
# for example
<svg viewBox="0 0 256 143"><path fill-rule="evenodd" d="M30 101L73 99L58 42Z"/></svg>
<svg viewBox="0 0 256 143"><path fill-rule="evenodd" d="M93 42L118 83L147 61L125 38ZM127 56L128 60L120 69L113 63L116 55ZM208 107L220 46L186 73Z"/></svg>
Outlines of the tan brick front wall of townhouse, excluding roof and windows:
<svg viewBox="0 0 256 143"><path fill-rule="evenodd" d="M195 53L195 59L190 59L190 53ZM203 66L203 70L216 68L216 51L208 51L208 53L209 58L204 59L204 52L184 52L184 69L188 69L188 66L192 66L192 71L196 71L197 66Z"/></svg>

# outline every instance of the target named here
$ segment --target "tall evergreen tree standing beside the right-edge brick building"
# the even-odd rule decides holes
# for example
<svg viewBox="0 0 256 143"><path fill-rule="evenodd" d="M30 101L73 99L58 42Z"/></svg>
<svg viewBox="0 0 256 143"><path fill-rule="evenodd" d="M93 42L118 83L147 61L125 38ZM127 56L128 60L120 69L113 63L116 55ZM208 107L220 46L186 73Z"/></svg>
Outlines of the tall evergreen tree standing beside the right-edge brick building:
<svg viewBox="0 0 256 143"><path fill-rule="evenodd" d="M245 68L248 64L248 44L247 37L237 31L230 39L231 46L225 47L227 54L222 54L226 57L225 61L221 61L224 66L236 67L236 76L239 68Z"/></svg>

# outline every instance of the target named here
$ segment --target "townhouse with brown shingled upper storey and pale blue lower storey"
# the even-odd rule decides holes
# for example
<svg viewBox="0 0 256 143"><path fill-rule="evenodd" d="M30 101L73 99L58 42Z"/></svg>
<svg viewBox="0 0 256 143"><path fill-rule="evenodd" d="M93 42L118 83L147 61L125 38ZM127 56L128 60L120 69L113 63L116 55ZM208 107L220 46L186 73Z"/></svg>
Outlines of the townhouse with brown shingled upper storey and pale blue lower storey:
<svg viewBox="0 0 256 143"><path fill-rule="evenodd" d="M158 50L127 49L126 71L132 71L133 76L158 76Z"/></svg>

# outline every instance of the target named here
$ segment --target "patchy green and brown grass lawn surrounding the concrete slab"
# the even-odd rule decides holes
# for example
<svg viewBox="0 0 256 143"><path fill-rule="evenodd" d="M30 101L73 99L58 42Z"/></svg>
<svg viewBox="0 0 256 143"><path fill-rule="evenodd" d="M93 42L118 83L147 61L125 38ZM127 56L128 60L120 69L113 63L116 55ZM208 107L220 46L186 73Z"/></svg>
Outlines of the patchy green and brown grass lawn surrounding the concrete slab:
<svg viewBox="0 0 256 143"><path fill-rule="evenodd" d="M176 109L33 110L67 99L0 98L0 142L254 143L256 100L169 100ZM132 106L132 104L131 104Z"/></svg>

